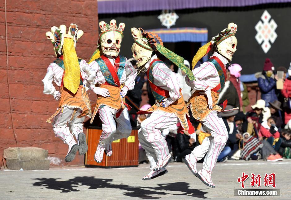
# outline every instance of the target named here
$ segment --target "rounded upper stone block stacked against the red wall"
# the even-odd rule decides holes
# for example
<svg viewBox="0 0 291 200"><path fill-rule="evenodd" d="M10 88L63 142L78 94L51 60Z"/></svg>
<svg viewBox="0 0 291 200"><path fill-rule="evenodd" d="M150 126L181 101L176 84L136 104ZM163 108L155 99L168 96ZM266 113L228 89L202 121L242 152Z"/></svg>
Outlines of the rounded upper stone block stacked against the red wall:
<svg viewBox="0 0 291 200"><path fill-rule="evenodd" d="M4 149L5 159L43 160L47 159L48 151L38 147L12 147Z"/></svg>

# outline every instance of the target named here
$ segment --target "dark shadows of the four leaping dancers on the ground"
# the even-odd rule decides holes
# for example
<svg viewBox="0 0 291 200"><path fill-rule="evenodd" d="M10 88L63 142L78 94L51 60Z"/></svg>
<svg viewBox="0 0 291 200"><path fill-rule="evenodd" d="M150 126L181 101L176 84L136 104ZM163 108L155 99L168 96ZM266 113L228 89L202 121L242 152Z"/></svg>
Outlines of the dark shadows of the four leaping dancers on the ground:
<svg viewBox="0 0 291 200"><path fill-rule="evenodd" d="M176 182L168 184L159 184L159 187L142 187L142 186L129 186L124 184L112 184L112 179L99 179L93 176L75 177L70 180L61 180L55 178L35 178L39 180L33 183L34 186L44 186L46 189L60 190L61 192L79 192L77 188L81 185L89 186L89 189L98 188L115 188L127 190L123 192L124 196L135 197L140 199L158 199L160 197L152 197L151 195L188 195L189 197L206 198L204 195L207 192L198 189L189 188L189 184L185 182ZM163 190L163 191L160 191ZM171 192L169 192L171 191ZM181 193L182 192L182 193ZM180 193L180 194L177 194ZM166 198L166 196L164 197Z"/></svg>

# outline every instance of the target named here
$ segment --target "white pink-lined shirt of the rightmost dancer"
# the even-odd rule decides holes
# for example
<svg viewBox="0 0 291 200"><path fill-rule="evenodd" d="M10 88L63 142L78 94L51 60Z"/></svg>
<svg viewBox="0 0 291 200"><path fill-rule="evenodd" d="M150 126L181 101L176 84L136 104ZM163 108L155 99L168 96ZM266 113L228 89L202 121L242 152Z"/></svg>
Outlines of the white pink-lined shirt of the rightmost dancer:
<svg viewBox="0 0 291 200"><path fill-rule="evenodd" d="M219 58L219 60L225 65L228 63L228 60L224 58L217 52L214 52L213 56ZM212 56L210 57L212 58ZM189 80L188 76L185 77L187 85L189 85L194 90L205 90L210 87L210 89L215 88L220 83L219 74L215 68L215 65L211 62L204 62L192 70L195 81Z"/></svg>

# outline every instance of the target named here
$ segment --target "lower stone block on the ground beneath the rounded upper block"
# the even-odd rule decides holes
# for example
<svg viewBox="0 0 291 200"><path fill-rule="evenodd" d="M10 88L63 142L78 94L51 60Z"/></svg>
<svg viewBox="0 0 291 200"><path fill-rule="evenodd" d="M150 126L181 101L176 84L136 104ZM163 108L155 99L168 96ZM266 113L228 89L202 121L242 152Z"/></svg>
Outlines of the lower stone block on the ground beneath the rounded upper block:
<svg viewBox="0 0 291 200"><path fill-rule="evenodd" d="M15 169L15 170L49 169L50 161L48 159L39 159L39 160L6 159L6 165L8 169Z"/></svg>

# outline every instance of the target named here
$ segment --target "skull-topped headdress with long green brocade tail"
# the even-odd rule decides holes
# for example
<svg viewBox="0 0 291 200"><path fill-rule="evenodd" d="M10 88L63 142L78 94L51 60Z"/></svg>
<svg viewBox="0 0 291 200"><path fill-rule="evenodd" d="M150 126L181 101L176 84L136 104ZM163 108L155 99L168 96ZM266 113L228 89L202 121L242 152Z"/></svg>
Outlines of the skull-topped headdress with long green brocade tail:
<svg viewBox="0 0 291 200"><path fill-rule="evenodd" d="M190 80L195 80L192 71L184 65L184 58L164 47L161 38L157 34L147 32L142 28L132 28L131 33L135 44L148 51L148 53L144 53L144 57L147 57L148 60L150 59L151 55L150 51L158 51L167 59L172 61L175 65L177 65L182 71L184 71L189 76ZM148 62L148 60L146 60L146 62Z"/></svg>

